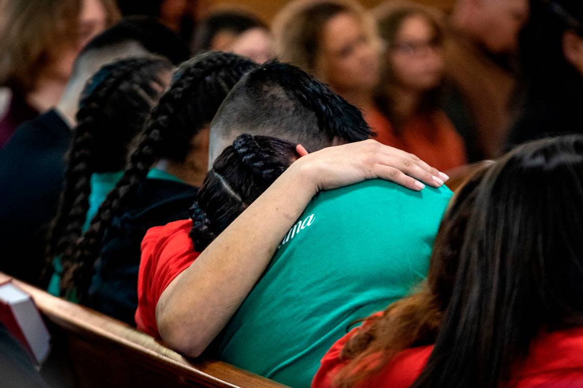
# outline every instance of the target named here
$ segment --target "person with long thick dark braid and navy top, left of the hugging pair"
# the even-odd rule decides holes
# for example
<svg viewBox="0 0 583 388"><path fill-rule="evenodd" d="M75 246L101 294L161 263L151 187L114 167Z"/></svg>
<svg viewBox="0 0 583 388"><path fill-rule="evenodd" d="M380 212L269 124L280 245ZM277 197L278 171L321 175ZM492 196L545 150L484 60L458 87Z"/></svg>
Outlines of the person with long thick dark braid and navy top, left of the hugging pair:
<svg viewBox="0 0 583 388"><path fill-rule="evenodd" d="M65 294L134 323L142 239L149 228L188 218L206 174L206 165L204 171L198 168L208 158L201 142L206 126L231 87L254 66L238 55L208 52L175 70L122 177L63 256Z"/></svg>

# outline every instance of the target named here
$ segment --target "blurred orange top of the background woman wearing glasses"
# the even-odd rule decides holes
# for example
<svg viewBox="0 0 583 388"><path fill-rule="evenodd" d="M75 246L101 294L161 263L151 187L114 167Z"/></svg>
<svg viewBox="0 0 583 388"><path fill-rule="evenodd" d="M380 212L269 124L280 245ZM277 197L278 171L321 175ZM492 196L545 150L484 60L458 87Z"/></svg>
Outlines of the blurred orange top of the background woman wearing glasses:
<svg viewBox="0 0 583 388"><path fill-rule="evenodd" d="M442 111L410 120L399 135L378 110L364 112L364 118L380 143L415 154L437 170L451 170L468 162L462 137Z"/></svg>

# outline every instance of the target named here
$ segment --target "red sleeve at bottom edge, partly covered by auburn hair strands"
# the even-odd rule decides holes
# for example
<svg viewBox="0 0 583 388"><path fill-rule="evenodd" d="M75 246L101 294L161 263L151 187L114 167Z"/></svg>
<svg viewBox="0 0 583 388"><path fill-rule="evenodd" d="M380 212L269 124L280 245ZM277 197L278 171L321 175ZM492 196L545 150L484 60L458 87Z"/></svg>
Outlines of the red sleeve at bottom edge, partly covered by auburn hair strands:
<svg viewBox="0 0 583 388"><path fill-rule="evenodd" d="M382 312L374 316L382 315ZM364 323L365 325L367 322ZM362 327L362 326L361 326ZM340 369L350 360L340 360L340 352L346 342L360 330L360 327L352 329L346 336L340 338L322 358L320 369L312 380L312 388L331 388L332 382ZM433 350L433 346L423 346L403 350L399 352L377 375L372 376L366 382L362 382L360 388L408 388L423 371L427 359Z"/></svg>

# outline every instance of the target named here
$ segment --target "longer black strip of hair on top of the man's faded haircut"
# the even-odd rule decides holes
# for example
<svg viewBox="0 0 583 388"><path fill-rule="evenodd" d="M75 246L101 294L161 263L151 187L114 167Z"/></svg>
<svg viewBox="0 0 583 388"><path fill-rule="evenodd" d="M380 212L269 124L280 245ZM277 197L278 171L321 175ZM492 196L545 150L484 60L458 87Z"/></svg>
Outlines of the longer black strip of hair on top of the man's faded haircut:
<svg viewBox="0 0 583 388"><path fill-rule="evenodd" d="M297 66L273 60L251 72L249 77L257 82L269 80L279 84L285 93L314 112L318 127L329 139L337 136L347 142L359 142L375 135L357 107Z"/></svg>

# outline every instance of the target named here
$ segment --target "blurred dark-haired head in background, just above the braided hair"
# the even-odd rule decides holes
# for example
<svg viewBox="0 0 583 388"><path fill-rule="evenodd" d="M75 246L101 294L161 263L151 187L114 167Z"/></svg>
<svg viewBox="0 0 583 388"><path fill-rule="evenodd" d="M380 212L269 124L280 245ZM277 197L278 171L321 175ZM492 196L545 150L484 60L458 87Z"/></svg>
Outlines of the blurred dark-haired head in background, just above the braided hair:
<svg viewBox="0 0 583 388"><path fill-rule="evenodd" d="M220 50L243 55L261 64L274 57L273 39L267 25L240 8L215 9L198 24L194 52Z"/></svg>

